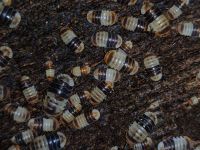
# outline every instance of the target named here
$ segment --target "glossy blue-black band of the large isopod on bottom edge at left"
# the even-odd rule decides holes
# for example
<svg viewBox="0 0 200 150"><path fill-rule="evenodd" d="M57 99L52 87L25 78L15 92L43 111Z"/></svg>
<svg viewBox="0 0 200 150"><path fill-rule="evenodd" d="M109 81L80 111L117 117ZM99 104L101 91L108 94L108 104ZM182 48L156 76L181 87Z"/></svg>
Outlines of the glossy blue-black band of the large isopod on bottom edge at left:
<svg viewBox="0 0 200 150"><path fill-rule="evenodd" d="M59 150L60 147L60 138L57 133L46 135L49 150Z"/></svg>

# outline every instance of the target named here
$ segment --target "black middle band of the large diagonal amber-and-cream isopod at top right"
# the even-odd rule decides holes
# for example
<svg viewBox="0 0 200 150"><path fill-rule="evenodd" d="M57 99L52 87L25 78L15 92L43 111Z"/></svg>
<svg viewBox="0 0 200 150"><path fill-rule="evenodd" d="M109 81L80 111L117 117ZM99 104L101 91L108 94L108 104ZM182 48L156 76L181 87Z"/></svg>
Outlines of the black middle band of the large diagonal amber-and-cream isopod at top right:
<svg viewBox="0 0 200 150"><path fill-rule="evenodd" d="M149 9L145 14L146 21L148 23L153 22L156 18L158 18L162 12L160 11L159 8L153 6L151 9Z"/></svg>

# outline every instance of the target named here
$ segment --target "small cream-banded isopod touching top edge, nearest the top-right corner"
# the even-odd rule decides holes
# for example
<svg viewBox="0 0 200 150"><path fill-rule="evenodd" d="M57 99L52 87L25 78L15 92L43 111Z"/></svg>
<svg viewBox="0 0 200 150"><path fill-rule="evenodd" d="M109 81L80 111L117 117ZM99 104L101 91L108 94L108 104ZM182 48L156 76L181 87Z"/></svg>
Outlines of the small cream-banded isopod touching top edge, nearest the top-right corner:
<svg viewBox="0 0 200 150"><path fill-rule="evenodd" d="M182 8L189 5L190 1L191 0L176 0L175 4L167 11L166 17L170 20L177 19L183 13Z"/></svg>

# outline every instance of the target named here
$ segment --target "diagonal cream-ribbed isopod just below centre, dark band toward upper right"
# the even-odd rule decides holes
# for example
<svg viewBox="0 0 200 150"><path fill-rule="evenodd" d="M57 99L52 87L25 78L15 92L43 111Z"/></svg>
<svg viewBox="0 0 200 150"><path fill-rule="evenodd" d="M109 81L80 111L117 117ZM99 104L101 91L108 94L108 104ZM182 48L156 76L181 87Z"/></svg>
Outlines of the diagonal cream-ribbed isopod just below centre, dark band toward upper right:
<svg viewBox="0 0 200 150"><path fill-rule="evenodd" d="M92 105L96 106L103 102L112 92L113 84L101 82L90 92L91 98L88 100Z"/></svg>

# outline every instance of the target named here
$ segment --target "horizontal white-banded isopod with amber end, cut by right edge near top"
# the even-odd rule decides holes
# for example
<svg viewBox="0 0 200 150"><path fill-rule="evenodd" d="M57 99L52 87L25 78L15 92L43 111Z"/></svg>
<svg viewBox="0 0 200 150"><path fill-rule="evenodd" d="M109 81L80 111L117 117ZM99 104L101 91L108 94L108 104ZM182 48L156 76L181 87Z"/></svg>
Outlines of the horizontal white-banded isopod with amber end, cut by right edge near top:
<svg viewBox="0 0 200 150"><path fill-rule="evenodd" d="M200 37L200 26L192 22L180 22L176 30L179 34L184 36Z"/></svg>

